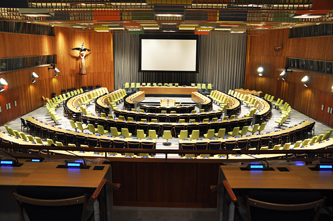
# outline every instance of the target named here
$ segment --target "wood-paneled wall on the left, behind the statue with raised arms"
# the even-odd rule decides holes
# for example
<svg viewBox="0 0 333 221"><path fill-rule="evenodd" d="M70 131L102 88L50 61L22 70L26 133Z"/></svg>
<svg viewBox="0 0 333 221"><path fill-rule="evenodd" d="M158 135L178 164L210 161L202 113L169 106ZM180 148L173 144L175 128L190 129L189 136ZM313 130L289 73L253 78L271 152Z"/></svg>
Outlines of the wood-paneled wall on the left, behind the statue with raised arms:
<svg viewBox="0 0 333 221"><path fill-rule="evenodd" d="M0 74L8 83L8 92L11 94L17 87L17 94L20 104L19 114L8 115L0 113L0 118L6 119L0 125L16 117L27 114L34 109L43 106L45 103L41 96L51 97L51 93L60 94L62 89L71 87L77 89L81 86L101 85L109 91L114 89L113 71L113 38L110 33L77 32L67 28L54 28L55 36L23 35L14 33L0 33L0 58L25 57L41 55L57 55L57 69L60 70L58 77L53 77L52 70L48 67L36 67L33 69L13 71ZM81 47L82 42L85 48L92 51L87 53L85 62L87 75L79 75L80 58L78 51L72 48ZM39 77L35 83L29 79L32 72ZM9 96L11 97L11 96ZM11 101L13 103L13 101ZM2 103L1 103L2 105ZM2 106L3 110L4 107Z"/></svg>

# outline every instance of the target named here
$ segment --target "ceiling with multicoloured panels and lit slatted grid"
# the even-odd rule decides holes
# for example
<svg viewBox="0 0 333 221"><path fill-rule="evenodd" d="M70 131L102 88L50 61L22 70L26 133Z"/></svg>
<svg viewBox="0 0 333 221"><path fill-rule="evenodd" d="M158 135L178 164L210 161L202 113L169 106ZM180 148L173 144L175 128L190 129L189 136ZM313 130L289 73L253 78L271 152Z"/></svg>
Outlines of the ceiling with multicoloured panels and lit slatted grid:
<svg viewBox="0 0 333 221"><path fill-rule="evenodd" d="M333 10L314 10L314 1L19 0L11 1L9 7L1 3L0 17L90 32L260 35L273 29L333 23Z"/></svg>

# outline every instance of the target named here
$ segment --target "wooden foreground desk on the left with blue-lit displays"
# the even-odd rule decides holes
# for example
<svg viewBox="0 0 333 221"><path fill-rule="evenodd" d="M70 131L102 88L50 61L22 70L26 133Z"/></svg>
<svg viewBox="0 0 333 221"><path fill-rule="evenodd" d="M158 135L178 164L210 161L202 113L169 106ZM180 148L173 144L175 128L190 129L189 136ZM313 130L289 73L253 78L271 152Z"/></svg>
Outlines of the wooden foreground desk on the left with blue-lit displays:
<svg viewBox="0 0 333 221"><path fill-rule="evenodd" d="M0 201L0 220L2 221L18 220L18 210L11 193L16 186L77 187L94 191L102 179L112 182L109 165L88 164L89 169L65 169L56 168L59 164L64 165L61 161L36 163L21 160L20 163L23 163L20 167L0 167L0 194L3 199L8 198L6 201ZM107 207L101 209L101 218L112 220L112 191L108 191L105 197L103 201L106 201ZM15 216L13 219L13 214L17 215L17 218Z"/></svg>

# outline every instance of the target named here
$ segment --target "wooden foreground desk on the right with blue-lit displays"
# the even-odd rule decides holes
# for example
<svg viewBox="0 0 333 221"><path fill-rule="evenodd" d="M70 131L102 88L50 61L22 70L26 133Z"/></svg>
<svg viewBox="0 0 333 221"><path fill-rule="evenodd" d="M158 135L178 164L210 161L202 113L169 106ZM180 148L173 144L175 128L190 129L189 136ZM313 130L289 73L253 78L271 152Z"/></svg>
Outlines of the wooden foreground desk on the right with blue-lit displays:
<svg viewBox="0 0 333 221"><path fill-rule="evenodd" d="M333 190L333 171L311 170L315 166L269 166L274 170L241 170L245 166L220 166L218 183L226 180L232 190ZM284 170L284 171L280 171ZM230 203L230 206L229 206ZM234 203L225 188L218 191L216 220L233 220Z"/></svg>

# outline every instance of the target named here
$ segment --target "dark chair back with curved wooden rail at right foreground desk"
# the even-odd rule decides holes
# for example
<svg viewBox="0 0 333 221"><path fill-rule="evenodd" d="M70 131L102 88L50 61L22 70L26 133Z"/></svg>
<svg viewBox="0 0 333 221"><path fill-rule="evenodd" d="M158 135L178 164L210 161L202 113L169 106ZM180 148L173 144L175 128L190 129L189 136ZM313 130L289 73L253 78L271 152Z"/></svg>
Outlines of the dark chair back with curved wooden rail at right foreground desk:
<svg viewBox="0 0 333 221"><path fill-rule="evenodd" d="M319 192L251 191L246 197L247 219L292 221L312 216L317 220L324 201Z"/></svg>

